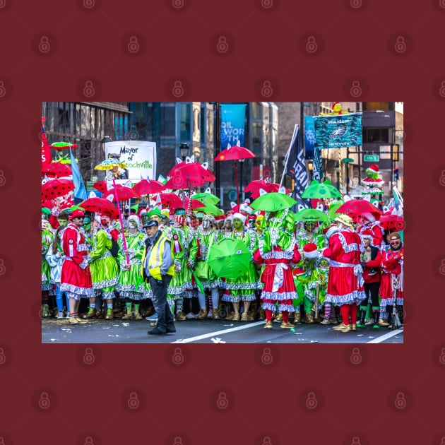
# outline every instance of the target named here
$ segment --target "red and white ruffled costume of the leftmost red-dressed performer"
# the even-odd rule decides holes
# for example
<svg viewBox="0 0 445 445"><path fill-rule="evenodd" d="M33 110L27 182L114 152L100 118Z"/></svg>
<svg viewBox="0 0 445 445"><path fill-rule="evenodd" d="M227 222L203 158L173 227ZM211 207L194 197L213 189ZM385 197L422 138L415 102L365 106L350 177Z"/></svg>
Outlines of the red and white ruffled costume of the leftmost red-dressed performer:
<svg viewBox="0 0 445 445"><path fill-rule="evenodd" d="M67 225L62 233L62 249L66 259L61 269L60 290L74 299L94 297L83 230L72 223Z"/></svg>

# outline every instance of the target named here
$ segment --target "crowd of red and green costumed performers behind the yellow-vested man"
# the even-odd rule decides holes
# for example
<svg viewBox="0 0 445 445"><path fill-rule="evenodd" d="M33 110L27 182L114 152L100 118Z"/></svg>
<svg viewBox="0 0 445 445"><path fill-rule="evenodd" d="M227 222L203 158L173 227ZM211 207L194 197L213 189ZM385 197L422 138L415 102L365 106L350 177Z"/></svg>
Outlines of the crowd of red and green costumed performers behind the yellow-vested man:
<svg viewBox="0 0 445 445"><path fill-rule="evenodd" d="M390 203L382 210L379 198L373 201L379 196L374 167L363 199L313 199L312 208L299 212L256 210L255 201L246 200L213 216L206 213L210 206L150 200L124 215L121 226L111 211L93 213L62 198L47 201L42 316L85 324L155 315L153 292L141 273L146 230L155 220L170 241L167 303L175 321L263 320L268 329L273 321L282 329L333 324L342 333L403 326L402 207L400 199L398 208ZM276 200L280 194L266 195ZM367 203L364 210L357 210L359 201ZM341 213L344 206L357 211ZM223 239L242 242L247 252L242 273L228 278L208 261Z"/></svg>

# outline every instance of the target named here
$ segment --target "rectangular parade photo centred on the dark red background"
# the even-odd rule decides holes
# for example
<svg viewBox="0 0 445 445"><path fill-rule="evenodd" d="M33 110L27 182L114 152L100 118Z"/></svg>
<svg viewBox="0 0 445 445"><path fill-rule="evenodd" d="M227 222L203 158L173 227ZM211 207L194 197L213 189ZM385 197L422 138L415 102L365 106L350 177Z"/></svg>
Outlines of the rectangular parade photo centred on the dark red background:
<svg viewBox="0 0 445 445"><path fill-rule="evenodd" d="M403 344L403 102L42 102L40 139L42 343Z"/></svg>

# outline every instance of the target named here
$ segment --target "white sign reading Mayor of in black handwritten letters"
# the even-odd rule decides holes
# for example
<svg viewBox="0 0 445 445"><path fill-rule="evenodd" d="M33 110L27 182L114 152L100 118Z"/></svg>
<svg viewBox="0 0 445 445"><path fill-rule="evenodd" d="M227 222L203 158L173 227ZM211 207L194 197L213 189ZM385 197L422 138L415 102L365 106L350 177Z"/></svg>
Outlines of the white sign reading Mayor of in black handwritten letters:
<svg viewBox="0 0 445 445"><path fill-rule="evenodd" d="M109 155L120 155L120 162L123 162L128 171L125 179L131 182L143 179L155 179L156 177L156 143L148 141L112 141L105 143L105 158ZM122 178L124 179L124 178Z"/></svg>

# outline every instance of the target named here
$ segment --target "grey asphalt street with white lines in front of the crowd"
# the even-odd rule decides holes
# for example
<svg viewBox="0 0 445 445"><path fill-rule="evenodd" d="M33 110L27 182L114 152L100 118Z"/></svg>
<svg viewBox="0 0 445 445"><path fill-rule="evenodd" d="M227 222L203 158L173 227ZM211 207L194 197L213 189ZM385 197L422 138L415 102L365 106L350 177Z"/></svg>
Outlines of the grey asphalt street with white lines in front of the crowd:
<svg viewBox="0 0 445 445"><path fill-rule="evenodd" d="M264 321L187 320L175 323L177 332L149 336L150 321L92 320L71 325L67 320L43 319L42 343L403 343L403 329L372 326L342 333L334 325L296 324L295 332L264 329Z"/></svg>

